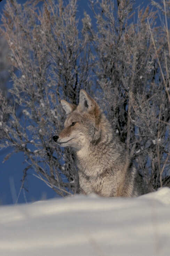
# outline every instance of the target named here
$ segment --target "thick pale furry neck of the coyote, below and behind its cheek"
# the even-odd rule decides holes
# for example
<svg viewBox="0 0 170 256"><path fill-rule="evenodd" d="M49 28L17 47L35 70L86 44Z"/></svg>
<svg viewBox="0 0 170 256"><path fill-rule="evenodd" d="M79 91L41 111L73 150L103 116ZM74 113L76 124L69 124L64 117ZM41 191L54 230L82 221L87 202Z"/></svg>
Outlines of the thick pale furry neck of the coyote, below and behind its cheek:
<svg viewBox="0 0 170 256"><path fill-rule="evenodd" d="M76 152L78 169L95 177L103 170L113 167L124 149L121 143L117 143L117 139L107 120L102 124L100 138Z"/></svg>

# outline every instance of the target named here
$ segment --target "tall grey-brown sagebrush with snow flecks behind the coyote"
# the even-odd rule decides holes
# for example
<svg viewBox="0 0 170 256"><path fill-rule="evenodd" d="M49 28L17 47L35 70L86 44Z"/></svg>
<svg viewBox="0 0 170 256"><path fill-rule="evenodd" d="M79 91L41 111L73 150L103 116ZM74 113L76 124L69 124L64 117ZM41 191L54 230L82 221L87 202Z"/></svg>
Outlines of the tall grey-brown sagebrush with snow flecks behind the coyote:
<svg viewBox="0 0 170 256"><path fill-rule="evenodd" d="M33 168L57 194L79 192L73 152L51 138L60 100L78 104L80 89L103 106L149 191L170 186L170 2L136 19L132 0L90 1L96 24L79 19L76 0L39 2L8 0L2 15L13 87L10 101L0 95L0 147L24 153L22 186Z"/></svg>

